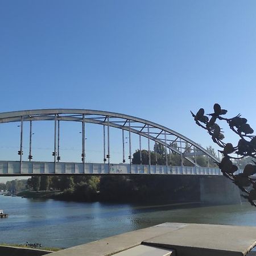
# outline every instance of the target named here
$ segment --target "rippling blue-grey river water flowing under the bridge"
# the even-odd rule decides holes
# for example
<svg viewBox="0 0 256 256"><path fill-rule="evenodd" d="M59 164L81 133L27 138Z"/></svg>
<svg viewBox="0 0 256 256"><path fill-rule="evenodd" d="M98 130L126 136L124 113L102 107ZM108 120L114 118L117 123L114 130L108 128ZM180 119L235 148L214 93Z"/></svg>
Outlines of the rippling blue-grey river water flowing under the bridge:
<svg viewBox="0 0 256 256"><path fill-rule="evenodd" d="M163 222L256 226L256 208L242 205L76 203L0 196L0 243L71 247Z"/></svg>

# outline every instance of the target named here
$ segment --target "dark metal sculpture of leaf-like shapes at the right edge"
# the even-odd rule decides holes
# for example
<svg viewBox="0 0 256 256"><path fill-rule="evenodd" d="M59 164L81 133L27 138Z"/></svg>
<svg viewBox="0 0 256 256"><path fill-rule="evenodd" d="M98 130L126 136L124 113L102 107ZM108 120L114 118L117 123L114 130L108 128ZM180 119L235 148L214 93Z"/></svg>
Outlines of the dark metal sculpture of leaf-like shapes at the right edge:
<svg viewBox="0 0 256 256"><path fill-rule="evenodd" d="M223 149L219 150L223 155L221 162L216 162L223 175L232 180L245 193L242 196L256 207L256 179L253 176L256 174L256 162L253 160L254 164L246 164L240 174L236 173L238 166L232 162L233 159L239 160L247 156L256 159L256 137L251 135L254 130L247 123L247 119L241 117L241 114L233 118L225 118L224 115L228 111L221 109L219 104L214 104L213 110L212 114L208 114L210 119L205 115L204 109L199 109L196 114L191 112L191 114L196 124L207 130L213 142ZM238 135L240 139L237 146L233 146L232 143L224 143L224 134L216 123L217 120L228 123L229 128ZM235 154L237 157L234 156Z"/></svg>

